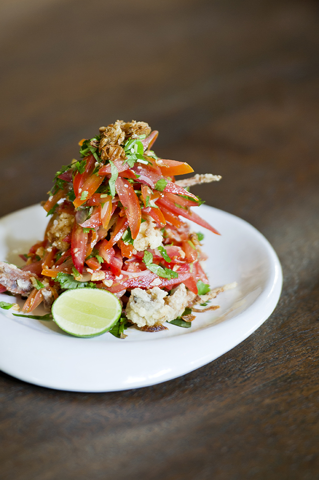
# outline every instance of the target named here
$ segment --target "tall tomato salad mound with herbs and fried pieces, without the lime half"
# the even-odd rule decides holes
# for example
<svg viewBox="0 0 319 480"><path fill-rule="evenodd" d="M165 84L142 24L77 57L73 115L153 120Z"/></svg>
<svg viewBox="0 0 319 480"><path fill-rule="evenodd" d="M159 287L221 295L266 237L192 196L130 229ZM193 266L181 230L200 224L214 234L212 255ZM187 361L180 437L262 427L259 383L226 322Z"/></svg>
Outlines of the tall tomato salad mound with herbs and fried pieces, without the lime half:
<svg viewBox="0 0 319 480"><path fill-rule="evenodd" d="M193 169L158 158L151 150L157 136L145 122L117 120L81 140L81 159L56 173L43 203L50 216L44 239L20 255L21 269L0 262L0 291L27 297L23 313L41 302L50 311L67 289L105 289L123 306L111 333L125 337L130 324L147 331L165 322L188 327L192 310L203 310L194 305L218 308L207 302L231 285L210 289L203 234L184 219L219 235L191 209L202 202L189 186L221 177L176 181Z"/></svg>

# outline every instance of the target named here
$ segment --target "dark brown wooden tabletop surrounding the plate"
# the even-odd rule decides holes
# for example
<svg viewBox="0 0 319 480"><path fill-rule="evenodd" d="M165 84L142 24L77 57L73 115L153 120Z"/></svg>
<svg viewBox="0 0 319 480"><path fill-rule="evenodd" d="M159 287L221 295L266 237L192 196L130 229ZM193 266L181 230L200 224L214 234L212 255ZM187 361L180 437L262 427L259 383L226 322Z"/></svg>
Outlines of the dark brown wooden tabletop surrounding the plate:
<svg viewBox="0 0 319 480"><path fill-rule="evenodd" d="M223 176L194 193L259 229L285 277L266 323L176 380L83 394L0 373L1 480L319 479L318 4L1 10L1 215L44 199L100 125L145 120L161 156Z"/></svg>

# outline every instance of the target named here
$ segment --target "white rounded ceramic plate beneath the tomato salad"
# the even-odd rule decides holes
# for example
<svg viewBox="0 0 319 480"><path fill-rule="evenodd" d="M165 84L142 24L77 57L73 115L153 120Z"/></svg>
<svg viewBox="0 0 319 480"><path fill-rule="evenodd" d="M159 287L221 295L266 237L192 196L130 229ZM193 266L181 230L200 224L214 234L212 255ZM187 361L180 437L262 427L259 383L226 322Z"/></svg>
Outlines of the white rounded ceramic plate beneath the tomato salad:
<svg viewBox="0 0 319 480"><path fill-rule="evenodd" d="M198 314L191 328L166 324L169 330L147 333L130 327L125 340L110 333L76 338L53 321L14 317L10 310L1 310L0 369L55 389L126 390L183 375L242 342L269 317L279 300L280 262L270 243L247 222L205 205L198 211L222 234L204 232L210 285L238 283L213 300L220 305L218 310ZM18 253L42 239L46 223L39 205L0 219L0 259L21 265ZM194 226L194 230L203 229ZM4 293L0 300L15 301Z"/></svg>

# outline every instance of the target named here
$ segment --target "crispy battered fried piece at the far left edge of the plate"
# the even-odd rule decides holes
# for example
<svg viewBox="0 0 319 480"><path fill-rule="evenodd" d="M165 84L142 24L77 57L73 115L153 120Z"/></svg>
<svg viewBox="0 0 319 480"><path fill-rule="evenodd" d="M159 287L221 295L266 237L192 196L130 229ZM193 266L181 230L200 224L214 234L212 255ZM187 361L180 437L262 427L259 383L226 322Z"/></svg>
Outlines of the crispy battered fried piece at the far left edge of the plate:
<svg viewBox="0 0 319 480"><path fill-rule="evenodd" d="M31 277L34 277L34 273L21 270L12 263L0 261L0 284L9 292L19 295L30 293L34 288Z"/></svg>

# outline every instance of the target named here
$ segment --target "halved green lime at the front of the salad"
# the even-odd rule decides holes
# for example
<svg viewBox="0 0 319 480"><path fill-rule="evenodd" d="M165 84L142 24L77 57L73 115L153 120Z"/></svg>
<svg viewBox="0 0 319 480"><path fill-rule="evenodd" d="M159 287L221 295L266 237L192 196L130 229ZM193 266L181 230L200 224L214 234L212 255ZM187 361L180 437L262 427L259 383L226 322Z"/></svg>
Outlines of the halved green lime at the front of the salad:
<svg viewBox="0 0 319 480"><path fill-rule="evenodd" d="M66 290L52 305L55 323L77 337L95 337L108 332L121 313L120 300L98 288Z"/></svg>

